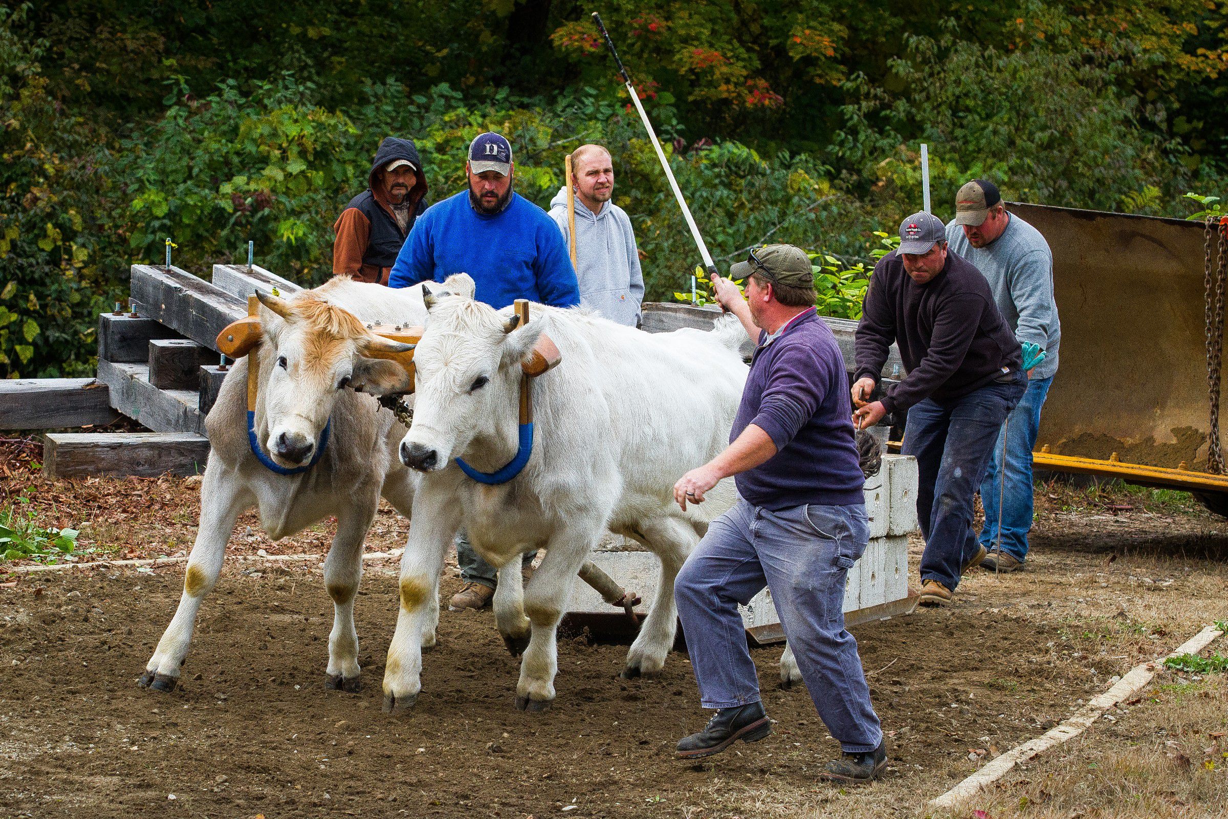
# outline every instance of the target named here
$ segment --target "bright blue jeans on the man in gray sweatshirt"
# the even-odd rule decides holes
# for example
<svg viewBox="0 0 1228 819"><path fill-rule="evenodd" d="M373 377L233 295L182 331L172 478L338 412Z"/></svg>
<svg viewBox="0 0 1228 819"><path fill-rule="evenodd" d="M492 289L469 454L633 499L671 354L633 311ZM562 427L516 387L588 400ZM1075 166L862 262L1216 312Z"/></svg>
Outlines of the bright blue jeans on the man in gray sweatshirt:
<svg viewBox="0 0 1228 819"><path fill-rule="evenodd" d="M1019 405L1011 411L1009 422L993 444L993 457L985 480L981 481L981 505L985 507L981 545L989 550L997 546L1001 497L1002 551L1020 562L1028 556L1028 532L1032 530L1032 452L1036 448L1040 408L1045 405L1049 384L1052 382L1052 376L1028 382L1028 390L1019 399ZM1006 469L1002 469L1003 436Z"/></svg>

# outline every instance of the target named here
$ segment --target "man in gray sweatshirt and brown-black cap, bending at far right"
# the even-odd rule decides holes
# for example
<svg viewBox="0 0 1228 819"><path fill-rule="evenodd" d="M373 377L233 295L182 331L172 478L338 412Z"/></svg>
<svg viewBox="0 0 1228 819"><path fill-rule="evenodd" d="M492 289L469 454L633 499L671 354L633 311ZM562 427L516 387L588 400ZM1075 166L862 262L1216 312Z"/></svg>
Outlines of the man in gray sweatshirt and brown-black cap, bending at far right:
<svg viewBox="0 0 1228 819"><path fill-rule="evenodd" d="M1032 529L1032 452L1040 429L1040 408L1057 372L1062 336L1054 301L1054 254L1040 231L1007 212L997 187L986 179L974 179L959 189L947 242L990 282L993 301L1016 339L1045 351L1044 361L1028 373L1028 390L1008 416L981 483L985 528L980 541L989 551L981 566L1017 571L1028 556Z"/></svg>

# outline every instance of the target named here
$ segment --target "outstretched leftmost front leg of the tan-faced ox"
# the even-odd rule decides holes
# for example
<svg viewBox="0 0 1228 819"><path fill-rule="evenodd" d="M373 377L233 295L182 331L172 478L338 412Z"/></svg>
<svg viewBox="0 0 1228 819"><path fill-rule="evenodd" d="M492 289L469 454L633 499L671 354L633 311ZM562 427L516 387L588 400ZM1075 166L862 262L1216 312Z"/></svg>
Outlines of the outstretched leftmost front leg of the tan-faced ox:
<svg viewBox="0 0 1228 819"><path fill-rule="evenodd" d="M196 613L205 594L217 583L226 541L235 530L235 521L239 512L254 503L255 496L242 483L238 473L223 467L216 458L210 458L200 485L200 523L196 527L196 541L188 556L188 570L183 576L179 608L145 666L145 673L138 680L142 688L174 690L179 680L179 667L183 666L192 642Z"/></svg>

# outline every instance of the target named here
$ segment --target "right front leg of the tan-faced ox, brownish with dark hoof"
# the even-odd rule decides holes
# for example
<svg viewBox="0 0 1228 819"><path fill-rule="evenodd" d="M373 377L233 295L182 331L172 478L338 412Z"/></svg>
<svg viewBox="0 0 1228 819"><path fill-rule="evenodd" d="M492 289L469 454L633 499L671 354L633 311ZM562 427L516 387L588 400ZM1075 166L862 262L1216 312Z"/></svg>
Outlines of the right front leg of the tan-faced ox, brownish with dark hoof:
<svg viewBox="0 0 1228 819"><path fill-rule="evenodd" d="M375 502L343 510L336 516L333 548L324 559L324 589L333 599L333 632L328 636L324 685L338 691L352 693L362 686L354 598L359 594L359 581L362 578L362 541L375 516Z"/></svg>

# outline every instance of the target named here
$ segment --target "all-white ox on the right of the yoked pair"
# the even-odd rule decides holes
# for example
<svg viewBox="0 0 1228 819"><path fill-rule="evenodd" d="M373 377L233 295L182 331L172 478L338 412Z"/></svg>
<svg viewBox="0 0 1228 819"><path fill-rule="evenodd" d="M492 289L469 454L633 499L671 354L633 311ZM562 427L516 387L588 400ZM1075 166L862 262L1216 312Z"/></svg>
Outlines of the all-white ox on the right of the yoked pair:
<svg viewBox="0 0 1228 819"><path fill-rule="evenodd" d="M500 567L495 618L523 647L516 705L538 711L555 696L555 630L576 572L607 529L661 559L652 608L624 675L664 666L674 640L674 577L707 523L736 499L732 481L684 513L672 487L725 446L747 378L743 330L651 335L577 309L532 305L528 324L464 297L440 298L414 352L414 424L403 463L425 473L414 495L400 566L400 611L384 670L384 710L411 706L421 689L421 645L435 627L440 572L458 528ZM486 485L457 467L492 473L518 442L521 366L540 334L562 362L530 382L535 440L524 469ZM518 556L545 548L523 586ZM527 645L526 645L527 639Z"/></svg>

